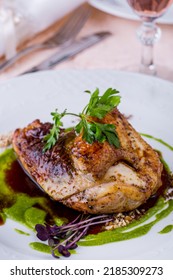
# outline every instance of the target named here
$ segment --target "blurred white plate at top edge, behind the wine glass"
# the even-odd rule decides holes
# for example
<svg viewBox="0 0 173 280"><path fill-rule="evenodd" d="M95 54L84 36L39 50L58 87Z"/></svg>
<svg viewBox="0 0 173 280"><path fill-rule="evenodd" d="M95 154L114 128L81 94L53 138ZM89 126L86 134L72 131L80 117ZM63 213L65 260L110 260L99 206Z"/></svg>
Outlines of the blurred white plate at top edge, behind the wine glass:
<svg viewBox="0 0 173 280"><path fill-rule="evenodd" d="M90 0L89 3L93 7L108 14L126 19L139 20L139 17L129 7L126 0ZM173 5L157 22L173 24Z"/></svg>

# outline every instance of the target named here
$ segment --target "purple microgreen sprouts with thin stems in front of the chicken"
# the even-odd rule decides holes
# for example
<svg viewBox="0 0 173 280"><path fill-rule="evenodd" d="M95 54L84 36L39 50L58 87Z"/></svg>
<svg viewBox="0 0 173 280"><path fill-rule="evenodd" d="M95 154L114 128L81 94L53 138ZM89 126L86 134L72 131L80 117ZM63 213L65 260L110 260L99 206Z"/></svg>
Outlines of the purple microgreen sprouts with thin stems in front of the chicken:
<svg viewBox="0 0 173 280"><path fill-rule="evenodd" d="M86 236L91 226L106 224L112 220L112 215L87 216L80 214L72 222L62 226L37 224L35 229L37 237L41 241L48 241L53 257L59 258L56 252L64 257L70 257L69 250L78 247L77 242Z"/></svg>

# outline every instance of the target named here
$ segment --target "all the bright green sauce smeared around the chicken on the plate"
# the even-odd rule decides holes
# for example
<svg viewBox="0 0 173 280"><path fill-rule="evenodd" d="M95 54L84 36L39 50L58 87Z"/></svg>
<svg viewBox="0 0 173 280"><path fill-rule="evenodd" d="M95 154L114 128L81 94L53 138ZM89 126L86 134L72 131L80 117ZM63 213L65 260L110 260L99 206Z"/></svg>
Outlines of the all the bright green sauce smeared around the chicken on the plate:
<svg viewBox="0 0 173 280"><path fill-rule="evenodd" d="M173 147L161 139L147 134L141 135L152 138L173 151ZM52 215L54 223L61 225L64 222L65 217L60 218L57 215L53 216L52 210L48 206L47 198L30 197L24 193L14 193L7 185L5 182L5 172L10 168L10 165L14 160L15 156L12 149L6 150L0 155L0 219L3 219L4 222L6 219L12 219L32 230L35 230L35 225L38 223L43 224L47 213L49 213ZM164 159L162 159L162 162L165 165L166 170L169 172L169 166L165 163ZM35 205L39 205L40 208L35 207ZM143 236L147 234L156 223L167 217L172 211L173 200L166 202L163 197L160 197L157 203L139 220L133 221L125 227L110 231L103 231L98 234L89 234L79 241L78 244L82 246L95 246ZM172 227L169 225L160 233L170 232L173 229ZM40 252L51 253L50 247L41 242L32 242L30 243L30 247Z"/></svg>

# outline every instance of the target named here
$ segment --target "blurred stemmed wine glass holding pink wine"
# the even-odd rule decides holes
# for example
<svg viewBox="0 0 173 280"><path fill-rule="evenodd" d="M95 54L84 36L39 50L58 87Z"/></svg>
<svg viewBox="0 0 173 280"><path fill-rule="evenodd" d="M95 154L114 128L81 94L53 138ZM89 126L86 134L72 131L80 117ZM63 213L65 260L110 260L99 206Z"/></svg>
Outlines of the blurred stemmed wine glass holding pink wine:
<svg viewBox="0 0 173 280"><path fill-rule="evenodd" d="M137 36L142 43L140 71L156 75L153 46L160 39L161 30L155 20L166 12L173 0L127 0L127 2L142 20L142 25L137 31Z"/></svg>

